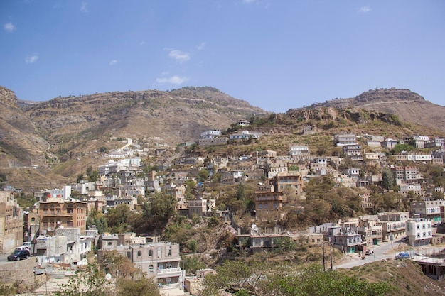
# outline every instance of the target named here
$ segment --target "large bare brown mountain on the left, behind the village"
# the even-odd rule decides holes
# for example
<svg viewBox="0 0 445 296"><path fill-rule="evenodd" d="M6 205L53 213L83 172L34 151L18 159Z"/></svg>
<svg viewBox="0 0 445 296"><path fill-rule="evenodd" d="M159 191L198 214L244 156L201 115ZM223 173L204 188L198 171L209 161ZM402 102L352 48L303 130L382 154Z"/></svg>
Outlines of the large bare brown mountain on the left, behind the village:
<svg viewBox="0 0 445 296"><path fill-rule="evenodd" d="M151 149L159 142L174 148L208 129L267 114L213 87L107 92L38 103L20 101L2 87L0 102L0 169L11 175L11 168L51 168L70 180L104 161L95 151L123 146L112 138L156 138ZM29 176L21 182L26 180Z"/></svg>

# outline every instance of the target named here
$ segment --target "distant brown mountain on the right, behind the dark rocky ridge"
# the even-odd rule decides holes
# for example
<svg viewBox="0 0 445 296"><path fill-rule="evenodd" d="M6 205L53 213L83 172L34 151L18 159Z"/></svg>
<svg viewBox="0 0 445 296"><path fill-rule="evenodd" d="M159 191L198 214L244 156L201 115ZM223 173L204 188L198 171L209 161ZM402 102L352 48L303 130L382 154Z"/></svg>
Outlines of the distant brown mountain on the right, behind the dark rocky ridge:
<svg viewBox="0 0 445 296"><path fill-rule="evenodd" d="M409 89L370 89L354 98L333 99L316 103L309 109L320 106L355 108L395 114L401 121L413 122L445 133L445 106L433 104Z"/></svg>

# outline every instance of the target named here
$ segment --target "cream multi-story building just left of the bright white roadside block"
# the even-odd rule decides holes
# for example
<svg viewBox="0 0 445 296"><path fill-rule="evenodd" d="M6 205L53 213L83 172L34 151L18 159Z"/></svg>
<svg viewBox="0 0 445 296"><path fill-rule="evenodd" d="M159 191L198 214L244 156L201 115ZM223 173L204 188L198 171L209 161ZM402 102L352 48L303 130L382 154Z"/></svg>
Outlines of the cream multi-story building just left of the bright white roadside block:
<svg viewBox="0 0 445 296"><path fill-rule="evenodd" d="M377 224L382 225L382 236L384 241L397 239L405 236L409 212L380 212L377 214Z"/></svg>

